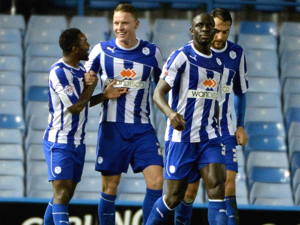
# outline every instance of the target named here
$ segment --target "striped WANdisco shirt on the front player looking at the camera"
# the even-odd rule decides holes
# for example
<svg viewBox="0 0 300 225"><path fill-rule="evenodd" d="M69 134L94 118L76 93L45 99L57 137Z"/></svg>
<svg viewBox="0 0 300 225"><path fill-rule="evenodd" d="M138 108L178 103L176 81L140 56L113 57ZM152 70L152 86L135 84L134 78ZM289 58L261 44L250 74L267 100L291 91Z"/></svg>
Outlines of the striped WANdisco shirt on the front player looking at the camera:
<svg viewBox="0 0 300 225"><path fill-rule="evenodd" d="M169 105L185 120L177 131L167 120L165 140L200 142L220 137L215 109L221 94L224 62L216 54L204 55L190 42L173 52L163 67L161 78L172 88Z"/></svg>

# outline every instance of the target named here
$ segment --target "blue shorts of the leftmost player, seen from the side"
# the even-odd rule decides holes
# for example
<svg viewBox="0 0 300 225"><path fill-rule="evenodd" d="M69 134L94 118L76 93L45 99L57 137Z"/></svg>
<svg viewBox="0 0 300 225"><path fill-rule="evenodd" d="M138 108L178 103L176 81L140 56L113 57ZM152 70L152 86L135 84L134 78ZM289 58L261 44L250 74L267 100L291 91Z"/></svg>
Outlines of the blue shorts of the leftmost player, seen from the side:
<svg viewBox="0 0 300 225"><path fill-rule="evenodd" d="M44 139L43 149L48 165L48 180L81 180L85 144L53 143Z"/></svg>

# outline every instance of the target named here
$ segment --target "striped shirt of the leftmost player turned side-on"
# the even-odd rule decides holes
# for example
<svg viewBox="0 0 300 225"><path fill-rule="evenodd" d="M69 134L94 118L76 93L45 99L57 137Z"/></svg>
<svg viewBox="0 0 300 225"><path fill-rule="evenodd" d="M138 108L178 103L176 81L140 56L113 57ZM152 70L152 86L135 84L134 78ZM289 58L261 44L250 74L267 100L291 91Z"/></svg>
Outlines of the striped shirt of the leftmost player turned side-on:
<svg viewBox="0 0 300 225"><path fill-rule="evenodd" d="M88 106L79 115L73 115L67 107L75 104L83 91L85 68L79 63L76 69L62 59L52 65L49 73L49 125L44 139L66 144L83 144Z"/></svg>

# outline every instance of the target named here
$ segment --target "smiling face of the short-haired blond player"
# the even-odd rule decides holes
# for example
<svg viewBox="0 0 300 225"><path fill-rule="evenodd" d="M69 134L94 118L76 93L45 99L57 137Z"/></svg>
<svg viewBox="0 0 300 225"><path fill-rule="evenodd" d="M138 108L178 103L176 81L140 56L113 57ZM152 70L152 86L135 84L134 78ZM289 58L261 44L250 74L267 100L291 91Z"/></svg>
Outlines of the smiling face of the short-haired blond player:
<svg viewBox="0 0 300 225"><path fill-rule="evenodd" d="M134 19L131 13L115 12L113 16L113 30L122 47L131 48L137 44L135 29L138 26L139 21Z"/></svg>

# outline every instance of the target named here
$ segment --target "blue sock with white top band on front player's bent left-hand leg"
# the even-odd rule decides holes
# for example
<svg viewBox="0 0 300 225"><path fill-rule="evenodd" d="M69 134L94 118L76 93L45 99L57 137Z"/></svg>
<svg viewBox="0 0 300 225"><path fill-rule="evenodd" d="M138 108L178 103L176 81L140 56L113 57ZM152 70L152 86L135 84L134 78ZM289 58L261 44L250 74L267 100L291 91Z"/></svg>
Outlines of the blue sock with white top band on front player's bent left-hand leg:
<svg viewBox="0 0 300 225"><path fill-rule="evenodd" d="M160 197L154 203L146 225L164 224L164 222L167 220L168 215L173 209L167 207L163 198L164 196Z"/></svg>

